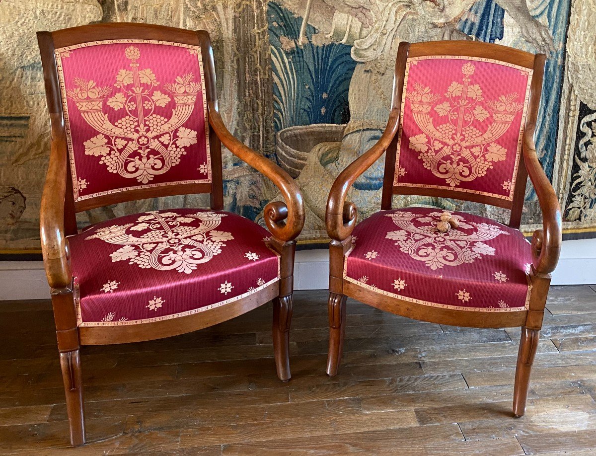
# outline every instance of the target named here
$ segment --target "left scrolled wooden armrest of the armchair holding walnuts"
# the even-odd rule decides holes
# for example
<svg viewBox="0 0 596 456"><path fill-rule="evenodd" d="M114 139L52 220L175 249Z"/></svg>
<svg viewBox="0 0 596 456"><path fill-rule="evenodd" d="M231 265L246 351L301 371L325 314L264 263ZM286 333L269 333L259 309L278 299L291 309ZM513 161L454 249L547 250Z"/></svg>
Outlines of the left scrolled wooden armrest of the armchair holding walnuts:
<svg viewBox="0 0 596 456"><path fill-rule="evenodd" d="M346 201L347 194L356 179L373 166L373 163L387 150L398 132L398 125L399 108L392 108L381 138L373 147L350 163L333 182L325 213L325 227L331 239L343 241L352 234L358 218L358 208L352 201Z"/></svg>

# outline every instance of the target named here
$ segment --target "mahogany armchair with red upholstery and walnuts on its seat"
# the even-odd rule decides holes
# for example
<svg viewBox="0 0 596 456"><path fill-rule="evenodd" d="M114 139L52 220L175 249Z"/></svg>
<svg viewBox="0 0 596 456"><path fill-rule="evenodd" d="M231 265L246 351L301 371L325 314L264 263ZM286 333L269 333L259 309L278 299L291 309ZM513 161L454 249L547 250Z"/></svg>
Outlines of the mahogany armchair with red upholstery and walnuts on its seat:
<svg viewBox="0 0 596 456"><path fill-rule="evenodd" d="M386 129L328 198L330 376L342 357L347 296L434 323L521 326L513 412L524 414L561 246L560 206L533 141L544 64L544 54L480 42L399 45ZM383 153L381 211L356 225L350 188ZM544 218L531 243L519 231L528 176ZM510 220L392 209L396 194L492 204L510 209Z"/></svg>

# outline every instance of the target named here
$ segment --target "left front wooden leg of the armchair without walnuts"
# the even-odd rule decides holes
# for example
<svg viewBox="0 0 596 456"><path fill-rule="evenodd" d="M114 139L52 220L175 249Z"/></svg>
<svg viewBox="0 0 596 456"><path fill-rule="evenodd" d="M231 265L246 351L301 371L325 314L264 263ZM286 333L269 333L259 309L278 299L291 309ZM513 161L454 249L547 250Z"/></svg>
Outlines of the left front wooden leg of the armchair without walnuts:
<svg viewBox="0 0 596 456"><path fill-rule="evenodd" d="M70 443L73 446L85 443L85 410L83 384L80 373L80 350L60 353L60 367L66 393L66 410L69 415Z"/></svg>

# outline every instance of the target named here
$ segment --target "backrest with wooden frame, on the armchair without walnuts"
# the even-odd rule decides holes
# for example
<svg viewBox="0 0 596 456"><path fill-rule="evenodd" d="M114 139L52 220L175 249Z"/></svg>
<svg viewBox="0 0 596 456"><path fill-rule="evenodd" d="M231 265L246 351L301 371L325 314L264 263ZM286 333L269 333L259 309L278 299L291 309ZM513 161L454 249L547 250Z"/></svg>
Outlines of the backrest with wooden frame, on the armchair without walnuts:
<svg viewBox="0 0 596 456"><path fill-rule="evenodd" d="M42 32L39 44L75 212L221 188L221 149L210 144L207 120L215 90L206 87L214 82L206 32L97 24Z"/></svg>

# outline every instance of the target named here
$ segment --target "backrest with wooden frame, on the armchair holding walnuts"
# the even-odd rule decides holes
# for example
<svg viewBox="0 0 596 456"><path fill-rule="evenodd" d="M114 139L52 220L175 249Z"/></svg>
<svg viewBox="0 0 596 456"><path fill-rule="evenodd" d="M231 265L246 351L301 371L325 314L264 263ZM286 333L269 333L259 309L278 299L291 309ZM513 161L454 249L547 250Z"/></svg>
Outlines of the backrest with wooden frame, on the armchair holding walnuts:
<svg viewBox="0 0 596 456"><path fill-rule="evenodd" d="M396 66L401 116L386 162L392 194L517 209L527 181L523 135L534 128L542 86L536 56L454 41L411 44L406 56Z"/></svg>

